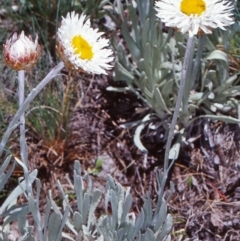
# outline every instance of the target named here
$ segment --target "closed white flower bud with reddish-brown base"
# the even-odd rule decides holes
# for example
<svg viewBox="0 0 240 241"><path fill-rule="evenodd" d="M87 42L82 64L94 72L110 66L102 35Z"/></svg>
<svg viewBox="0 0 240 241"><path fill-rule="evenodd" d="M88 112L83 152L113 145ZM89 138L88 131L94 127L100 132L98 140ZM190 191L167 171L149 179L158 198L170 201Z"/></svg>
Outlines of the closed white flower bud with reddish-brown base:
<svg viewBox="0 0 240 241"><path fill-rule="evenodd" d="M3 45L3 55L6 64L15 70L31 70L41 53L38 36L35 41L26 37L24 32L18 36L14 33L12 38Z"/></svg>

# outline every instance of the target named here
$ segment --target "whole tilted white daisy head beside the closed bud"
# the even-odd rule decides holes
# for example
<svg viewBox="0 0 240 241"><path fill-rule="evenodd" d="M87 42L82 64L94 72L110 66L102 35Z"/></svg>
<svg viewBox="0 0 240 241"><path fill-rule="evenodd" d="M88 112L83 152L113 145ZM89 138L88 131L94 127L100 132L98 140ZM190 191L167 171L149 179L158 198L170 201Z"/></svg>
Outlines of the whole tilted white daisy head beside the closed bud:
<svg viewBox="0 0 240 241"><path fill-rule="evenodd" d="M91 28L85 15L68 13L57 32L57 53L69 69L107 74L106 70L112 68L109 62L113 60L113 52L102 35L98 29Z"/></svg>

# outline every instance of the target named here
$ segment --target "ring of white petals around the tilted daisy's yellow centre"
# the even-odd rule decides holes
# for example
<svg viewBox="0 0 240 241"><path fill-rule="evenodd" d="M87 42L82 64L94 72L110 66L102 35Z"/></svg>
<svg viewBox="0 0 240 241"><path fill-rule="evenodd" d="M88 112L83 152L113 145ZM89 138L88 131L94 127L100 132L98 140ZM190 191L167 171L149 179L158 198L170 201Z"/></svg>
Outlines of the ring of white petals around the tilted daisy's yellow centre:
<svg viewBox="0 0 240 241"><path fill-rule="evenodd" d="M79 16L75 12L68 13L66 18L62 19L61 26L58 29L59 44L63 47L64 60L68 59L76 70L84 70L87 73L107 74L106 70L112 68L109 64L114 58L113 52L108 49L109 41L101 38L103 33L98 29L91 28L90 20L85 15ZM81 36L88 42L93 51L91 59L83 59L76 54L72 45L72 39L75 36ZM63 61L64 61L63 60Z"/></svg>

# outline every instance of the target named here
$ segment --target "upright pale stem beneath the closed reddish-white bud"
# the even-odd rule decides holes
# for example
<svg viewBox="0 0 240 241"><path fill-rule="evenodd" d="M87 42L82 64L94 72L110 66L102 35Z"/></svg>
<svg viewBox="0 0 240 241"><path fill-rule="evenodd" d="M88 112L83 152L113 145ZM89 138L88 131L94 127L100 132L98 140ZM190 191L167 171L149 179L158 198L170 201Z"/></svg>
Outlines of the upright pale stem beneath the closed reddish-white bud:
<svg viewBox="0 0 240 241"><path fill-rule="evenodd" d="M18 105L19 108L22 106L24 102L24 95L25 95L25 71L20 70L18 71ZM26 144L26 136L25 136L25 112L20 116L20 156L22 162L24 164L23 173L24 178L26 180L26 191L27 194L32 193L32 188L29 182L29 174L28 174L28 151L27 151L27 144Z"/></svg>

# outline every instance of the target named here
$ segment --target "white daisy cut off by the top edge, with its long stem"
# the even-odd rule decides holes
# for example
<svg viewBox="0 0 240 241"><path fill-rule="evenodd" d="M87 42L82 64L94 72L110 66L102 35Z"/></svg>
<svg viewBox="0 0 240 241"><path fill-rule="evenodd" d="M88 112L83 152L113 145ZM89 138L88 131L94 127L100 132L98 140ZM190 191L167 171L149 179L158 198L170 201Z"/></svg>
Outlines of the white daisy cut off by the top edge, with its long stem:
<svg viewBox="0 0 240 241"><path fill-rule="evenodd" d="M200 67L200 58L203 53L203 45L199 44L200 48L195 58L195 66L193 65L194 58L194 36L203 34L211 34L211 28L222 28L226 30L225 26L230 26L234 23L232 18L233 4L226 1L208 1L208 0L179 0L174 2L158 1L156 2L156 8L158 11L157 16L166 23L167 26L181 29L182 33L187 32L189 34L186 46L186 52L183 59L183 67L181 70L181 80L179 84L179 91L177 95L176 105L172 117L171 124L169 126L169 133L167 138L165 156L164 156L164 172L169 170L169 153L174 137L174 130L177 124L178 115L181 112L184 117L184 124L189 117L188 114L188 99L190 94L189 83L195 81L196 75L194 71L198 71ZM178 12L179 11L179 12ZM174 13L174 16L171 15ZM177 14L178 13L178 14ZM164 15L165 14L165 15ZM166 15L169 14L169 17ZM215 16L216 14L216 16ZM165 16L165 18L163 17ZM199 41L200 42L200 41ZM185 94L185 95L184 95ZM181 107L181 102L183 102ZM186 121L187 120L187 121ZM176 159L171 158L170 159Z"/></svg>

